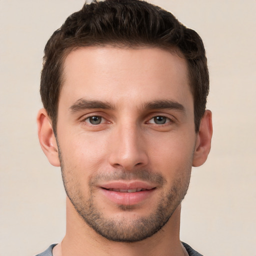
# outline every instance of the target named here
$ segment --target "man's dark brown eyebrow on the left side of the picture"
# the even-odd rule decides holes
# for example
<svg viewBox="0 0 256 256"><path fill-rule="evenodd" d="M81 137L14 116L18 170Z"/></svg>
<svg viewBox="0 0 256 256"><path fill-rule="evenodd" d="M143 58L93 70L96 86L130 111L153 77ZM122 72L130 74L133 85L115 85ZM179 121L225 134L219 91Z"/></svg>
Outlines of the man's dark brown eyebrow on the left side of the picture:
<svg viewBox="0 0 256 256"><path fill-rule="evenodd" d="M109 102L104 102L100 100L87 100L84 98L80 98L75 101L69 107L71 113L75 113L84 109L92 109L92 108L101 108L101 109L114 109L114 106Z"/></svg>

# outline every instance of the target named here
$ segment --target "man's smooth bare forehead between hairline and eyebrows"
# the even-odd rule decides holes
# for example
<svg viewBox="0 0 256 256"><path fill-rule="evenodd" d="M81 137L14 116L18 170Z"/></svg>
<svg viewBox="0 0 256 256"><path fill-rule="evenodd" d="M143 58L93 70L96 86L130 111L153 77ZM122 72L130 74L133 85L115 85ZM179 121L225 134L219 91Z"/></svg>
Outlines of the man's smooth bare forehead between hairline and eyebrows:
<svg viewBox="0 0 256 256"><path fill-rule="evenodd" d="M135 101L190 97L186 60L155 47L81 47L63 65L60 99ZM70 102L71 103L71 102Z"/></svg>

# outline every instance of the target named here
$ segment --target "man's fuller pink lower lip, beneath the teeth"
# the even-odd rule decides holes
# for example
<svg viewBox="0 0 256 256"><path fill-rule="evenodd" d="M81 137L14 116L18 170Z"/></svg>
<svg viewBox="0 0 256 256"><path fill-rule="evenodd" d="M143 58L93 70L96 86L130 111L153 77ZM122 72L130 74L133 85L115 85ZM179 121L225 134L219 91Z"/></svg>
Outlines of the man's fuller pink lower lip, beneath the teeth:
<svg viewBox="0 0 256 256"><path fill-rule="evenodd" d="M134 193L117 192L101 188L103 194L112 202L122 205L138 204L150 197L155 189L143 190Z"/></svg>

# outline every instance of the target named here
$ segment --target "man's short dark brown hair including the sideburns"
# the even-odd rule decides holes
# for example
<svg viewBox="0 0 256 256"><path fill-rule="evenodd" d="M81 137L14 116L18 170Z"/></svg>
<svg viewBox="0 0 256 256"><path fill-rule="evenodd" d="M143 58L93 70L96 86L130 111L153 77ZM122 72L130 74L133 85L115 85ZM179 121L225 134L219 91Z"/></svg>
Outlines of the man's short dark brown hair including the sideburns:
<svg viewBox="0 0 256 256"><path fill-rule="evenodd" d="M94 0L71 14L44 48L40 95L56 134L62 64L76 47L148 45L176 49L187 60L197 132L209 91L207 59L200 36L170 12L141 0ZM180 54L181 53L181 54Z"/></svg>

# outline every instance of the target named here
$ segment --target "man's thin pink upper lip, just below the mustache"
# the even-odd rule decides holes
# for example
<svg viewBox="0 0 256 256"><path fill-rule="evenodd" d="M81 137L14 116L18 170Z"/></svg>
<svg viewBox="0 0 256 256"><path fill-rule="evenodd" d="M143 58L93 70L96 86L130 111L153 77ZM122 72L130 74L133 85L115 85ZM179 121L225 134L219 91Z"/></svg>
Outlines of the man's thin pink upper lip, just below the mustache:
<svg viewBox="0 0 256 256"><path fill-rule="evenodd" d="M100 184L99 187L105 188L105 189L152 189L155 188L154 185L148 184L145 181L110 181L104 184Z"/></svg>

